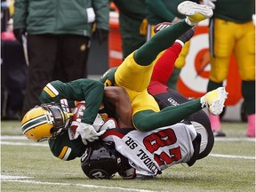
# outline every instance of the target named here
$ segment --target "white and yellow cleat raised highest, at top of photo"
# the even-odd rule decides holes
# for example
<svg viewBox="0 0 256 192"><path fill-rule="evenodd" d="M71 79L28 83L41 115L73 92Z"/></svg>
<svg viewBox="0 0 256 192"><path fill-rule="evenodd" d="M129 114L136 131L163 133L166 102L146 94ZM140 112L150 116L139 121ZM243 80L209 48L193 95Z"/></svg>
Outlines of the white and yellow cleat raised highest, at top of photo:
<svg viewBox="0 0 256 192"><path fill-rule="evenodd" d="M196 4L194 2L185 1L178 5L178 12L187 16L189 25L209 19L212 17L212 8L204 4Z"/></svg>

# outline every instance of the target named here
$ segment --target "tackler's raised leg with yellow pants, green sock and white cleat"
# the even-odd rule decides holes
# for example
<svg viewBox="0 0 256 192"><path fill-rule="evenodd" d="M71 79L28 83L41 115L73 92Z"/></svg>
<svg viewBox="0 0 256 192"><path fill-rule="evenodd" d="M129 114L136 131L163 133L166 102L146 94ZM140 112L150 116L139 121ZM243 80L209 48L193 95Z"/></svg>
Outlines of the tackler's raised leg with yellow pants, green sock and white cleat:
<svg viewBox="0 0 256 192"><path fill-rule="evenodd" d="M188 12L189 9L192 11ZM156 60L157 55L170 47L180 35L192 28L197 22L212 16L210 7L190 4L189 2L181 3L179 11L182 14L188 14L188 18L164 28L137 51L132 52L116 70L117 85L135 91L146 89L151 78L153 61Z"/></svg>

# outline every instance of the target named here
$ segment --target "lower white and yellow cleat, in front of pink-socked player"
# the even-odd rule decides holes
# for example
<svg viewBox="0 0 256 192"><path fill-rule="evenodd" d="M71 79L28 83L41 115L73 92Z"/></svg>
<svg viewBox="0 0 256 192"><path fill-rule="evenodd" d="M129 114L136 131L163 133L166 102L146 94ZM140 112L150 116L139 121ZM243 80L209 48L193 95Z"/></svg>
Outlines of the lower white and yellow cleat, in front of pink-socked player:
<svg viewBox="0 0 256 192"><path fill-rule="evenodd" d="M200 101L202 108L206 107L212 115L218 116L223 111L224 102L227 98L228 92L226 92L225 87L219 87L212 92L207 92Z"/></svg>

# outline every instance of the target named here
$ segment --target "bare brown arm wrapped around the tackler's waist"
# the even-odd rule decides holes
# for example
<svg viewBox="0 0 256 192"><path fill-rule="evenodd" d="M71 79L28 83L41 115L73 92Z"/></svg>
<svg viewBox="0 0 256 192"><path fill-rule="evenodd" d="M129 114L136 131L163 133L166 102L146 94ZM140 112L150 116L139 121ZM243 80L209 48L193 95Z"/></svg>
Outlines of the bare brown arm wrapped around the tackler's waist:
<svg viewBox="0 0 256 192"><path fill-rule="evenodd" d="M116 117L119 128L132 128L132 107L127 92L116 86L105 87L104 100L116 108Z"/></svg>

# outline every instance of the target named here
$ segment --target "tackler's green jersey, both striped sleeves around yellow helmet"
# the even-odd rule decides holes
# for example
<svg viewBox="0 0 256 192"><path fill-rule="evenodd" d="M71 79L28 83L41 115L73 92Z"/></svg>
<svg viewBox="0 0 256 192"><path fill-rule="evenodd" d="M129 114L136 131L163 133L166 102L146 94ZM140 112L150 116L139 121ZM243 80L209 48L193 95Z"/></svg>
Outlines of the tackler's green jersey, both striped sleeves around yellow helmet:
<svg viewBox="0 0 256 192"><path fill-rule="evenodd" d="M86 108L81 122L93 124L103 100L104 84L91 79L77 79L62 83L53 81L44 87L40 95L42 103L60 103L63 110L70 112L76 101L85 101ZM68 127L55 139L48 140L53 156L69 161L82 156L86 146L80 137L74 139L74 132Z"/></svg>

